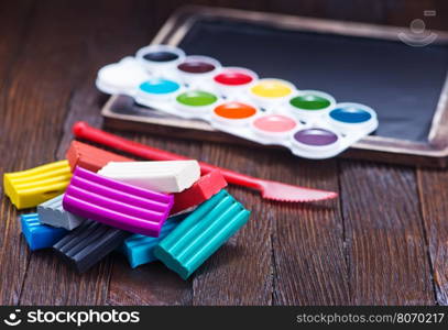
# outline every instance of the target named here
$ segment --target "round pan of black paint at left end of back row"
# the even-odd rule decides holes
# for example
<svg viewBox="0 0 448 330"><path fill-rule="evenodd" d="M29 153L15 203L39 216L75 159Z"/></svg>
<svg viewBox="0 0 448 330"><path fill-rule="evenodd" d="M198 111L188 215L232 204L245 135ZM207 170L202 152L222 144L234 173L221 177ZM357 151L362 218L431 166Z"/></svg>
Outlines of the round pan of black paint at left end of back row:
<svg viewBox="0 0 448 330"><path fill-rule="evenodd" d="M181 48L170 45L151 45L140 48L135 54L136 59L151 73L161 73L174 68L185 58Z"/></svg>

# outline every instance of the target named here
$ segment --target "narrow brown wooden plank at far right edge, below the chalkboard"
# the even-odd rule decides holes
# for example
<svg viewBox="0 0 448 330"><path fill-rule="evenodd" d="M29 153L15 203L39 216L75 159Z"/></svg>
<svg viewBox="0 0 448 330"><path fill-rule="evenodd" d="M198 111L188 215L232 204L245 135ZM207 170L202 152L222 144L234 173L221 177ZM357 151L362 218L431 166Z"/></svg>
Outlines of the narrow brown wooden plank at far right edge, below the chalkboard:
<svg viewBox="0 0 448 330"><path fill-rule="evenodd" d="M437 302L448 305L448 173L417 169L418 193Z"/></svg>

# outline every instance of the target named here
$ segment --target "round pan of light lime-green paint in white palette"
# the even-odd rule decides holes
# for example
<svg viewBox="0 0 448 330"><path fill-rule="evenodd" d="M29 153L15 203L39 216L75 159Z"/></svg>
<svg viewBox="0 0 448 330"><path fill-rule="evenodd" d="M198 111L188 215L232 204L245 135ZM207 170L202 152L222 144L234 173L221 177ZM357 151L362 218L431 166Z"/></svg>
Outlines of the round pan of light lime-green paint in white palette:
<svg viewBox="0 0 448 330"><path fill-rule="evenodd" d="M188 90L179 94L176 99L176 108L188 114L211 113L219 98L217 95L204 90Z"/></svg>

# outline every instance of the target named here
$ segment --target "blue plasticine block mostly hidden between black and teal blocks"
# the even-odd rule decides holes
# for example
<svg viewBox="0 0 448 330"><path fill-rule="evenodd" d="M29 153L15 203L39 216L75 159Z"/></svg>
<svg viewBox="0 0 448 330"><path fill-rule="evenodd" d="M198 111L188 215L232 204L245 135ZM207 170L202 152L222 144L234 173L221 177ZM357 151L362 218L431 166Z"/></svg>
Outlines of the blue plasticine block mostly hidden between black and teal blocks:
<svg viewBox="0 0 448 330"><path fill-rule="evenodd" d="M133 234L124 240L119 251L125 255L132 268L151 263L156 260L153 254L154 246L171 233L185 218L185 215L168 218L162 227L159 238Z"/></svg>

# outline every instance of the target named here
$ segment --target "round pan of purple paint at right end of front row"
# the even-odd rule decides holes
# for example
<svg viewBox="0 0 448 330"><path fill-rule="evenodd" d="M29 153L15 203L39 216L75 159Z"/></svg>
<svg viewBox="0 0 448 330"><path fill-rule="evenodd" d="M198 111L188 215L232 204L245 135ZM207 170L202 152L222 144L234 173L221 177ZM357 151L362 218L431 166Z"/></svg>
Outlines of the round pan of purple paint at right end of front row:
<svg viewBox="0 0 448 330"><path fill-rule="evenodd" d="M340 142L338 134L330 130L319 128L308 128L296 131L291 139L294 147L315 152L316 156L319 155L319 152L328 152L337 148Z"/></svg>

